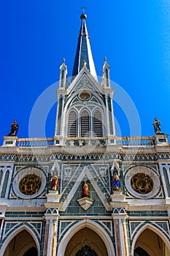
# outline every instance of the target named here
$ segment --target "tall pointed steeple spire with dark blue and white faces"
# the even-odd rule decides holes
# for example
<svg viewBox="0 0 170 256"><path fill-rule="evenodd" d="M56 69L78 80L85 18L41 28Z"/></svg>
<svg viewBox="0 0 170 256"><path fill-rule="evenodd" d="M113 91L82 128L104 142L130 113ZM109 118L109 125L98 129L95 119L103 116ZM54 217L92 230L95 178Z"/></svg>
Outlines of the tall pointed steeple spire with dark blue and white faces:
<svg viewBox="0 0 170 256"><path fill-rule="evenodd" d="M88 29L85 23L87 16L83 12L80 18L82 20L82 23L80 27L78 42L77 42L77 50L76 50L76 56L74 59L72 76L74 77L75 75L77 75L82 69L82 67L85 66L84 63L86 62L86 67L90 71L91 75L97 78L93 56L90 48Z"/></svg>

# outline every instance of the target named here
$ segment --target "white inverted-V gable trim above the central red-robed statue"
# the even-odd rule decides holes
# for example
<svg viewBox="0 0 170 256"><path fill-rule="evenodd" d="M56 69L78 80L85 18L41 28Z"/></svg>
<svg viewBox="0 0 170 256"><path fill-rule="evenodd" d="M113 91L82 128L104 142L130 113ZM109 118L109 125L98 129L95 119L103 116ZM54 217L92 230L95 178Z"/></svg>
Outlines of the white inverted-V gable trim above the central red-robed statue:
<svg viewBox="0 0 170 256"><path fill-rule="evenodd" d="M101 192L101 189L99 189L98 185L96 184L96 181L94 180L87 166L83 168L82 172L80 173L80 176L77 178L77 181L75 182L74 186L69 192L69 195L67 196L66 200L63 202L63 207L62 207L63 211L65 211L67 206L69 206L69 203L71 202L75 192L77 192L77 189L79 188L80 183L83 181L84 178L88 178L88 180L90 180L90 184L95 189L96 194L101 200L101 203L103 203L104 207L107 209L107 211L109 211L109 203L107 203L104 194Z"/></svg>

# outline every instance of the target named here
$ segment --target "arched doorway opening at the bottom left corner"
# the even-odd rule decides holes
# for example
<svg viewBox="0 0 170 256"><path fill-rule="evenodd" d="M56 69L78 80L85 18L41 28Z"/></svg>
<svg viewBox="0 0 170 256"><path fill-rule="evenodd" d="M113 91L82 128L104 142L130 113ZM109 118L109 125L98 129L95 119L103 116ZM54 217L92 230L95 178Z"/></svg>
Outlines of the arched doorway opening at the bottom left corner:
<svg viewBox="0 0 170 256"><path fill-rule="evenodd" d="M23 230L9 242L4 256L38 256L34 238L28 231Z"/></svg>

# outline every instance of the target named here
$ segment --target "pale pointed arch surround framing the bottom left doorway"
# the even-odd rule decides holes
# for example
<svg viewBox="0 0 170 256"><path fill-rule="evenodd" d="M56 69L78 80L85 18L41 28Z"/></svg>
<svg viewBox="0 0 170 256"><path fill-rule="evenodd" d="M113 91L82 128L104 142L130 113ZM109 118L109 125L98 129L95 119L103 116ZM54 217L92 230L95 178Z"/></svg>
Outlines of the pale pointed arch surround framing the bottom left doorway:
<svg viewBox="0 0 170 256"><path fill-rule="evenodd" d="M1 250L0 250L0 255L4 255L5 250L7 249L7 246L9 245L10 241L12 241L13 238L15 238L15 236L17 236L20 232L22 232L23 230L26 230L31 237L34 239L35 244L36 244L36 249L38 251L38 256L40 256L40 247L39 247L39 241L36 238L34 232L31 230L31 228L27 227L26 225L23 225L22 227L18 227L17 230L13 231L9 237L4 241L4 244L1 246ZM29 244L29 246L31 246L31 244ZM28 249L28 248L26 248ZM19 256L19 255L18 255ZM21 256L21 255L20 255Z"/></svg>

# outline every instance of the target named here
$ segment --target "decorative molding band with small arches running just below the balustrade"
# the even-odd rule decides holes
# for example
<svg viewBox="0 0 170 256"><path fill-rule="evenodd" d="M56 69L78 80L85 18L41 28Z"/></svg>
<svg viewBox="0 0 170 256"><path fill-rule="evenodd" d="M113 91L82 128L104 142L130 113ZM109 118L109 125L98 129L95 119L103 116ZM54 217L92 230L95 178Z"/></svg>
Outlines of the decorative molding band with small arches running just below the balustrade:
<svg viewBox="0 0 170 256"><path fill-rule="evenodd" d="M64 148L64 147L63 147ZM115 148L115 149L114 149ZM1 148L0 148L1 149ZM80 159L86 159L86 161L91 160L114 160L114 159L121 159L124 162L132 161L132 162L138 162L138 161L157 161L157 160L169 160L170 159L170 153L169 152L161 152L161 153L143 153L143 154L133 154L130 152L125 154L119 154L117 152L117 145L113 145L112 151L109 149L109 153L104 153L107 150L107 146L104 147L103 153L93 153L93 154L72 154L68 153L68 147L66 147L65 153L55 153L54 151L61 151L61 147L56 148L50 148L51 154L46 154L46 151L41 151L41 156L39 155L39 152L24 152L27 148L22 148L20 150L20 155L16 154L17 152L12 148L10 148L9 154L7 154L7 150L4 151L4 153L0 154L0 161L1 162L7 162L7 161L18 161L18 162L50 162L55 159L58 160L80 160ZM31 149L31 148L30 148ZM43 149L43 148L42 148ZM8 149L9 150L9 149ZM41 150L41 149L40 149ZM21 154L22 153L22 154ZM38 154L39 153L39 154Z"/></svg>

